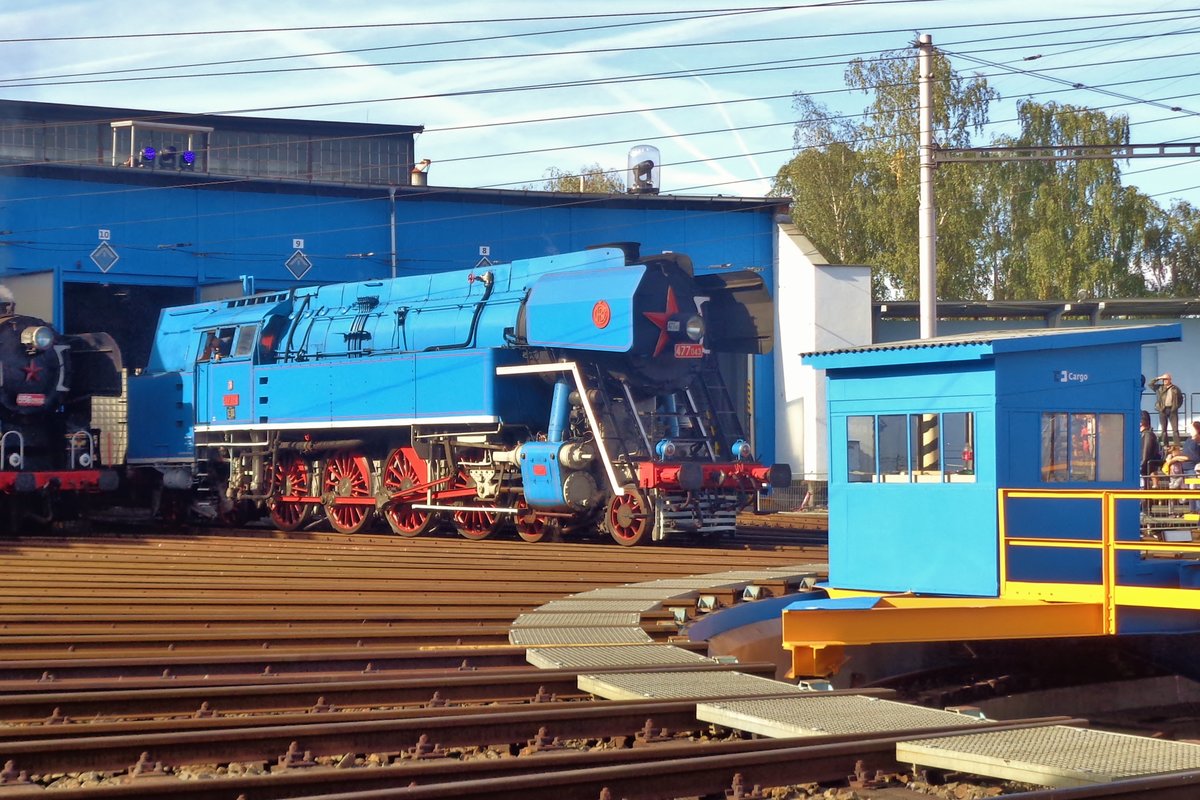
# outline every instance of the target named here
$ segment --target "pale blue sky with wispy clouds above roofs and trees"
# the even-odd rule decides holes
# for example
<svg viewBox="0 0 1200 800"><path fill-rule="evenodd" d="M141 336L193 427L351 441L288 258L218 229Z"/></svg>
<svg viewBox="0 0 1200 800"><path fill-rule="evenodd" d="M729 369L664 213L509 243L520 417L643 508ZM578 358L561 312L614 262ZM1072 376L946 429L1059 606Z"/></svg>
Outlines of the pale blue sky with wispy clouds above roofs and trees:
<svg viewBox="0 0 1200 800"><path fill-rule="evenodd" d="M1012 133L1015 101L1032 96L1128 114L1135 143L1200 140L1200 0L1151 1L1138 11L1160 13L1140 17L1111 17L1127 0L760 2L0 0L0 97L422 125L418 157L438 186L622 168L647 143L665 192L752 197L791 156L792 92L857 113L865 97L842 91L846 61L929 32L1002 95L985 137ZM767 10L731 12L749 8ZM256 32L145 36L235 29ZM62 38L96 36L113 38ZM659 73L680 77L646 79ZM196 77L161 77L180 74ZM586 85L529 88L552 82ZM1196 161L1122 168L1164 206L1200 205Z"/></svg>

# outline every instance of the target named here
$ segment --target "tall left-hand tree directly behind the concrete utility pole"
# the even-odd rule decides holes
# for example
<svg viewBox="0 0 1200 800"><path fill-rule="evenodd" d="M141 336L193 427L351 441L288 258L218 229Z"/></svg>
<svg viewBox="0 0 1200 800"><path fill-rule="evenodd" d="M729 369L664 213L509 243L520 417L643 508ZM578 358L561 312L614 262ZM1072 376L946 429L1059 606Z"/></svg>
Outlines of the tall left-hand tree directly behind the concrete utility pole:
<svg viewBox="0 0 1200 800"><path fill-rule="evenodd" d="M967 146L988 122L995 91L983 78L954 73L934 59L935 136ZM870 97L860 116L838 118L805 95L796 96L800 121L797 155L775 176L774 192L793 198L792 218L817 248L841 264L870 264L877 296L916 296L918 106L912 50L857 59L846 83ZM986 273L976 257L985 222L979 187L970 176L938 175L938 294L982 296ZM954 207L955 215L944 209ZM962 265L954 269L953 265Z"/></svg>

